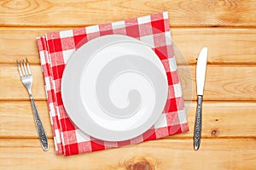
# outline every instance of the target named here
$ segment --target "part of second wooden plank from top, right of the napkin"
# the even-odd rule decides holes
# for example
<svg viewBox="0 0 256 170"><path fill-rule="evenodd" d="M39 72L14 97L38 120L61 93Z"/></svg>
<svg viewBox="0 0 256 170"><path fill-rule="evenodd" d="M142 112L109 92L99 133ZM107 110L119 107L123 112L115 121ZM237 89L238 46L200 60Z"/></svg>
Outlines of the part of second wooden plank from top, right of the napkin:
<svg viewBox="0 0 256 170"><path fill-rule="evenodd" d="M256 29L172 28L171 33L177 64L195 65L205 46L209 49L207 64L256 64Z"/></svg>

